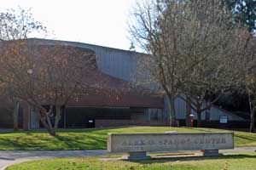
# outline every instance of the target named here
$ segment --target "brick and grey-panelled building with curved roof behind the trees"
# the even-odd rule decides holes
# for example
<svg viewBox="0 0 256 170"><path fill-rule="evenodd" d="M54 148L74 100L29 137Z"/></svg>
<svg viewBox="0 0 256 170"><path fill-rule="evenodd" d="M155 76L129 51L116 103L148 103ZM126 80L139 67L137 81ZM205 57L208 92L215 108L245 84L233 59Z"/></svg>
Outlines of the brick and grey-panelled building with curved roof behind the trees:
<svg viewBox="0 0 256 170"><path fill-rule="evenodd" d="M79 101L71 101L65 106L61 114L60 127L109 127L126 125L148 125L148 126L167 126L169 120L169 105L164 96L149 95L139 93L131 87L134 75L137 74L137 61L142 54L122 50L117 48L107 48L81 42L65 42L47 39L32 38L29 42L37 45L73 46L86 48L96 53L96 65L100 77L108 79L105 87L111 88L130 88L125 95L89 95ZM146 88L145 88L146 89ZM176 99L177 119L180 125L184 125L186 115L186 103L183 99ZM1 110L0 110L1 111ZM3 114L7 111L2 111ZM192 113L196 114L194 111ZM1 127L11 127L11 114L0 117ZM3 118L5 117L5 118ZM9 118L7 118L9 117ZM32 108L22 105L20 107L20 127L34 129L42 127L38 113ZM212 106L208 111L202 113L202 120L218 124L232 124L232 122L244 123L247 120L241 116L224 111L221 108ZM225 123L225 120L227 123ZM9 122L9 123L7 123ZM213 126L212 124L212 126Z"/></svg>

